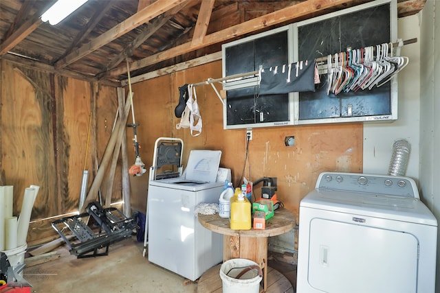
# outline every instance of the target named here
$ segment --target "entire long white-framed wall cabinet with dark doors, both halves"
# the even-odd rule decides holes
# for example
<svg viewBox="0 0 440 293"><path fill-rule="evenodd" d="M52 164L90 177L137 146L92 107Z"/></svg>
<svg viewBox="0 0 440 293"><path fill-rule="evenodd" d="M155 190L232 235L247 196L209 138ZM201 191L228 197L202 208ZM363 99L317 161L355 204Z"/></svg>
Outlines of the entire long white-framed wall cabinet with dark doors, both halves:
<svg viewBox="0 0 440 293"><path fill-rule="evenodd" d="M223 45L223 127L254 128L397 119L397 78L384 86L327 95L327 73L315 92L259 94L256 71L315 60L397 39L397 2L373 1Z"/></svg>

